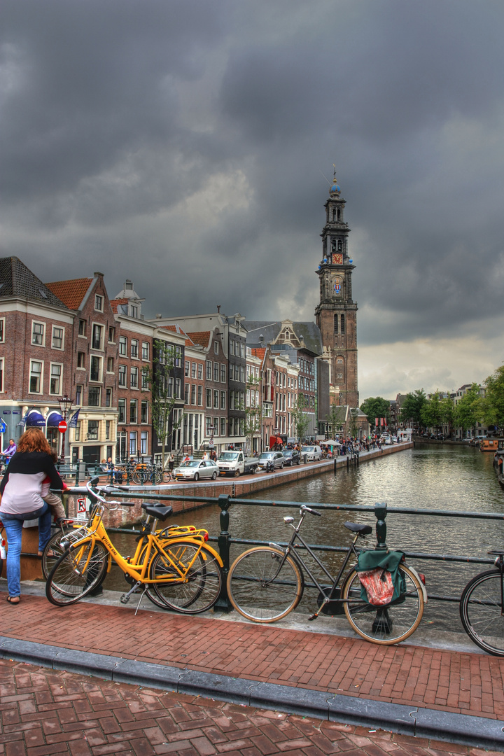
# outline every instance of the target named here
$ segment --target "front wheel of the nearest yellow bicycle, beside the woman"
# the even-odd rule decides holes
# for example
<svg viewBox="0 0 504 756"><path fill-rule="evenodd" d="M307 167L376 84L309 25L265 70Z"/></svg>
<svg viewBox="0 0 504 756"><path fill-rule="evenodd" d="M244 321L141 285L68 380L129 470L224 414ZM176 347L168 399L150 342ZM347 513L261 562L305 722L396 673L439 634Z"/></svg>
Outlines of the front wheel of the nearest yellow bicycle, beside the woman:
<svg viewBox="0 0 504 756"><path fill-rule="evenodd" d="M66 606L76 603L97 588L107 573L107 557L107 549L98 541L94 546L89 541L65 551L51 569L45 584L45 595L51 604Z"/></svg>

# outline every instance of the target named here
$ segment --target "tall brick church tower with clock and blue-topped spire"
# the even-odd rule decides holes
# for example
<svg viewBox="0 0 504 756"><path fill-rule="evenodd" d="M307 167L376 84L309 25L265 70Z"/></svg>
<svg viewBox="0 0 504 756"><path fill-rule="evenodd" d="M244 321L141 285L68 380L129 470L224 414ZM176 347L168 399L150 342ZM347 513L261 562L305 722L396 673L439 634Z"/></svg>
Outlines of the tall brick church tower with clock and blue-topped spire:
<svg viewBox="0 0 504 756"><path fill-rule="evenodd" d="M336 404L359 406L357 391L357 304L352 299L353 260L348 256L348 234L345 222L345 200L334 180L326 201L326 225L322 234L320 304L315 308L320 328L324 357L329 362L332 395Z"/></svg>

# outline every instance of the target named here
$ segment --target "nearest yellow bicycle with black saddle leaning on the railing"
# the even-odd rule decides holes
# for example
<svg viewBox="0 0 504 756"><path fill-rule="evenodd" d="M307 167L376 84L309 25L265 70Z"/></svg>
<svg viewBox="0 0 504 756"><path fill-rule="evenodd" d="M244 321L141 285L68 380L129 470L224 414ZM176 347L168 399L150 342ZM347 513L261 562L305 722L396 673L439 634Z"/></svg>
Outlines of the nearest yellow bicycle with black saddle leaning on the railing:
<svg viewBox="0 0 504 756"><path fill-rule="evenodd" d="M106 508L132 507L133 503L107 502L93 488L97 481L86 484L94 502L88 522L60 541L64 551L48 575L48 600L55 606L68 606L88 596L104 581L114 560L131 584L131 590L121 596L122 603L141 591L140 601L147 595L158 606L176 612L199 614L211 609L221 593L223 563L206 543L207 531L190 526L156 531L158 521L168 519L172 507L144 503L142 508L152 520L144 524L135 554L124 557L110 541L102 516Z"/></svg>

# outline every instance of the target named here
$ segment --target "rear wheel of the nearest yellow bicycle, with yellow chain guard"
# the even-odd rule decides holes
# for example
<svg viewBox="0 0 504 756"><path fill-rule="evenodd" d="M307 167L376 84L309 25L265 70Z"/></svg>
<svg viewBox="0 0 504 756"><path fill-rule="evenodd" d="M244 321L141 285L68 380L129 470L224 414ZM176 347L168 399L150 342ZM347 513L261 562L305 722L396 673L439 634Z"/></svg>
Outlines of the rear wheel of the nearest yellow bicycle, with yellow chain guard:
<svg viewBox="0 0 504 756"><path fill-rule="evenodd" d="M168 558L156 553L150 562L151 580L156 596L168 609L184 614L199 614L211 609L222 586L221 566L211 551L188 541L163 546Z"/></svg>

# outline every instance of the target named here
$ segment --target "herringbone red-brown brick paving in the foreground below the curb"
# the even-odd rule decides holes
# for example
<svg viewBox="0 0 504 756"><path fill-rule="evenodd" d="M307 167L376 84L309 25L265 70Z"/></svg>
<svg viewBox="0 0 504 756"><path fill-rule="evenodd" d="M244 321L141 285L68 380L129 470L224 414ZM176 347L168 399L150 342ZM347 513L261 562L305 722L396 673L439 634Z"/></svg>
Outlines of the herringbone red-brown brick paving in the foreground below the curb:
<svg viewBox="0 0 504 756"><path fill-rule="evenodd" d="M0 660L5 756L497 756Z"/></svg>

